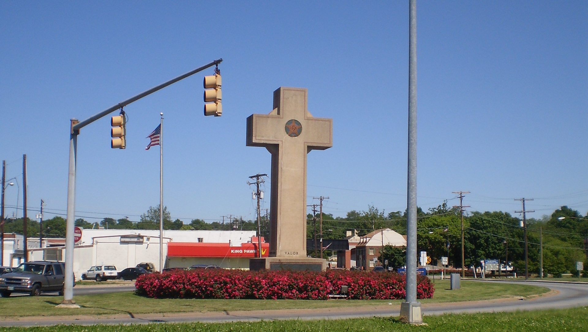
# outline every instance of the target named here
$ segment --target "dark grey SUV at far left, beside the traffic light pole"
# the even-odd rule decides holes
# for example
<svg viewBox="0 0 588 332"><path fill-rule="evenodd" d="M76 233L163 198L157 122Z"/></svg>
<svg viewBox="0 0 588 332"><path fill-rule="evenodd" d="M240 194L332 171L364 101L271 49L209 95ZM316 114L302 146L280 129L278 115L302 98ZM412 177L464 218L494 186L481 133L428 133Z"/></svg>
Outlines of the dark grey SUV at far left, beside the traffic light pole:
<svg viewBox="0 0 588 332"><path fill-rule="evenodd" d="M65 283L64 272L65 263L59 261L21 263L14 271L0 275L0 296L9 297L12 293L39 296L41 293L51 291L57 291L62 296Z"/></svg>

